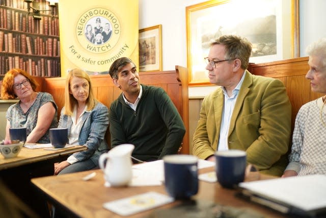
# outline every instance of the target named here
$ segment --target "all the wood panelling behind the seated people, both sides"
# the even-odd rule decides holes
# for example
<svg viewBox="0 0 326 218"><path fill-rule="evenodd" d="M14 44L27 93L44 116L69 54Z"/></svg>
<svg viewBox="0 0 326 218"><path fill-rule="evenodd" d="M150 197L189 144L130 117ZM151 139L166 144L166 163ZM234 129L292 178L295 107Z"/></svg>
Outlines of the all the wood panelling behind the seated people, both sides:
<svg viewBox="0 0 326 218"><path fill-rule="evenodd" d="M250 64L249 66L249 71L254 75L273 77L283 82L292 105L292 130L295 116L300 107L322 96L321 93L311 91L310 81L305 78L308 70L308 57ZM191 143L193 133L197 127L202 99L191 99L188 101L187 69L179 67L175 71L141 72L140 75L141 83L160 86L168 92L181 114L187 130L183 141L182 153L192 153ZM45 81L43 81L43 78L38 79L40 84L45 83L45 90L52 93L58 106L62 107L64 104L64 79L48 78ZM91 79L99 101L110 107L111 102L120 94L120 89L113 85L110 76L94 76ZM165 82L162 82L162 80ZM180 95L180 93L182 94ZM61 108L59 108L60 110Z"/></svg>

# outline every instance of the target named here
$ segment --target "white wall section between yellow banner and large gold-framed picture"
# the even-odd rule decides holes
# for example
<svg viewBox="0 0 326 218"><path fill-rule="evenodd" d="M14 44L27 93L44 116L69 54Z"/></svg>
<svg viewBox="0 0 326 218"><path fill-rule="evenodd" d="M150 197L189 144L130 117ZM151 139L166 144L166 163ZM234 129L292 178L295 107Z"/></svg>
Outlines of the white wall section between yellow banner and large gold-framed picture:
<svg viewBox="0 0 326 218"><path fill-rule="evenodd" d="M203 0L139 0L139 29L162 25L163 70L187 66L185 7Z"/></svg>

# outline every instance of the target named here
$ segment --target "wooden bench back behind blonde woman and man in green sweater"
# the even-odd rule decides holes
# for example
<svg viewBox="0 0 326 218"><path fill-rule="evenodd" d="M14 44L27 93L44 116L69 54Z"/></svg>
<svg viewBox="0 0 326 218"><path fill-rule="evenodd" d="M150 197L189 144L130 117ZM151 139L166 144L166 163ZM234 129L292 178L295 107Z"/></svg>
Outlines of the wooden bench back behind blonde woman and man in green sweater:
<svg viewBox="0 0 326 218"><path fill-rule="evenodd" d="M189 109L188 109L188 70L185 67L176 66L170 71L140 72L140 83L162 87L170 96L172 102L180 113L186 133L182 142L182 154L189 153ZM109 75L90 76L93 91L98 101L110 108L111 103L118 98L121 90L115 86ZM36 78L39 91L43 90L52 94L58 105L58 118L65 101L65 78ZM110 142L110 133L106 132L106 140Z"/></svg>

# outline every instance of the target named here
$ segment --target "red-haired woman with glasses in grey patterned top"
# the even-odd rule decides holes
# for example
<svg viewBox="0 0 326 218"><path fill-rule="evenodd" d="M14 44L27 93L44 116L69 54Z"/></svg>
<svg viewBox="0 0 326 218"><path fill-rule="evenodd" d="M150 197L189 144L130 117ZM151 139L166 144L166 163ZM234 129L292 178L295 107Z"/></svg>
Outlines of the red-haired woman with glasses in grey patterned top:
<svg viewBox="0 0 326 218"><path fill-rule="evenodd" d="M49 143L49 128L57 128L57 105L52 95L37 92L37 82L22 69L11 69L2 81L1 98L19 99L7 110L6 138L9 128L25 127L28 143Z"/></svg>

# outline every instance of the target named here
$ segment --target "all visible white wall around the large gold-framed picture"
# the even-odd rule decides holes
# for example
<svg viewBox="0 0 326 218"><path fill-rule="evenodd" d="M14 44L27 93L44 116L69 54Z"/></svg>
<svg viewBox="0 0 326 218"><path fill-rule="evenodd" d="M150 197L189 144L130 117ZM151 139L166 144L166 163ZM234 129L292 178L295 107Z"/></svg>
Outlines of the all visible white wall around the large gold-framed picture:
<svg viewBox="0 0 326 218"><path fill-rule="evenodd" d="M163 70L175 65L187 66L186 6L203 0L139 0L139 28L162 25ZM314 40L326 36L325 0L300 0L300 54L306 56L305 48ZM205 96L214 86L189 87L189 98Z"/></svg>

